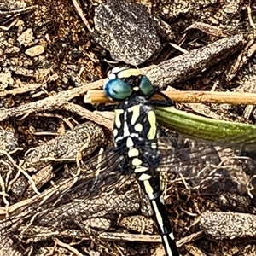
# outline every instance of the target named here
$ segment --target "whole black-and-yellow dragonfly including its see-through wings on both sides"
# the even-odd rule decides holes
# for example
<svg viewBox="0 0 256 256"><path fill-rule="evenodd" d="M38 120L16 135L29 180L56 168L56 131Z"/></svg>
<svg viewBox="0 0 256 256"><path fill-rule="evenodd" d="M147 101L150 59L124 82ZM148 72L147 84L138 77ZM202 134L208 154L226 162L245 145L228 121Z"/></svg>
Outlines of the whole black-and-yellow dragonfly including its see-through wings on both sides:
<svg viewBox="0 0 256 256"><path fill-rule="evenodd" d="M26 237L35 243L37 237L31 234L42 232L44 226L60 233L61 223L67 226L74 223L81 230L88 230L92 224L83 224L81 218L100 219L99 212L109 216L126 210L137 212L137 196L127 189L137 180L153 209L166 255L177 256L179 252L163 195L162 173L177 179L180 188L195 189L205 195L247 190L253 194L254 161L236 158L240 146L233 150L216 148L211 143L166 133L157 124L154 107L172 106L173 102L166 96L163 101L151 99L154 94L162 94L137 69L114 68L104 91L119 101L111 107L115 111L113 148L71 170L52 188L35 196L29 205L20 207L19 214L1 219L0 236ZM221 142L224 146L228 143L230 138ZM231 162L224 165L230 155ZM245 165L249 168L244 168ZM92 231L90 236L97 234Z"/></svg>

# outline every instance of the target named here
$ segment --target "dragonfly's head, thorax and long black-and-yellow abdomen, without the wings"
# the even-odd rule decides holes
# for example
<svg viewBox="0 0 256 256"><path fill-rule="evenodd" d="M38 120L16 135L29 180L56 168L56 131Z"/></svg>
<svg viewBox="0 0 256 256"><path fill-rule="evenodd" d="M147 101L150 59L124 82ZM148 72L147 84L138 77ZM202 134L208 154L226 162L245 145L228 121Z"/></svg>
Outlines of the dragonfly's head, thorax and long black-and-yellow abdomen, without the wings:
<svg viewBox="0 0 256 256"><path fill-rule="evenodd" d="M120 171L134 173L148 196L167 256L179 256L174 241L172 225L165 207L160 184L162 155L159 138L163 131L156 122L152 106L172 106L174 103L154 87L137 69L113 68L103 87L111 99L121 100L114 109L113 140L118 151L123 151L125 161ZM148 101L154 94L164 97L164 102Z"/></svg>

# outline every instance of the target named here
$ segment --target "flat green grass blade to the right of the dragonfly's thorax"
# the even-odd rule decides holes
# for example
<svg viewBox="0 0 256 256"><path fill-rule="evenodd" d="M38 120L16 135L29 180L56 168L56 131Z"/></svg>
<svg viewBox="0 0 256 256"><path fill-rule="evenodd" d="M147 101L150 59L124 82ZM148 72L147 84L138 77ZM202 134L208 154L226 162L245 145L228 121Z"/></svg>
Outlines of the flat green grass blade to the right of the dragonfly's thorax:
<svg viewBox="0 0 256 256"><path fill-rule="evenodd" d="M254 143L256 148L256 125L209 119L175 108L156 108L155 113L160 125L185 137L210 142Z"/></svg>

